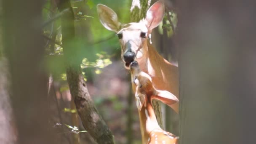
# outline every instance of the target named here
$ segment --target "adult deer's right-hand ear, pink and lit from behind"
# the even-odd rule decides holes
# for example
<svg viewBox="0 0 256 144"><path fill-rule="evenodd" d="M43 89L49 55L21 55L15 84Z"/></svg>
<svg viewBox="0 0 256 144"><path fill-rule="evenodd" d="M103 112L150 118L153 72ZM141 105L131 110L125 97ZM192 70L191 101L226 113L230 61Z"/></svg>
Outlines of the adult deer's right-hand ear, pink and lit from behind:
<svg viewBox="0 0 256 144"><path fill-rule="evenodd" d="M147 27L151 31L157 27L160 22L163 20L165 15L165 6L162 1L155 2L147 11L146 22Z"/></svg>

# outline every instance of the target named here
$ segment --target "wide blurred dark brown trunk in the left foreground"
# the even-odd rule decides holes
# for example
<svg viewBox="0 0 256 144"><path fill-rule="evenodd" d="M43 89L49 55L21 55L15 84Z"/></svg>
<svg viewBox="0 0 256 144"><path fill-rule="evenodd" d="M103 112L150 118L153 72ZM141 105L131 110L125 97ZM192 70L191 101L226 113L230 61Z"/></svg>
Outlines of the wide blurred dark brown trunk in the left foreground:
<svg viewBox="0 0 256 144"><path fill-rule="evenodd" d="M51 144L44 53L43 0L3 0L3 42L20 144Z"/></svg>

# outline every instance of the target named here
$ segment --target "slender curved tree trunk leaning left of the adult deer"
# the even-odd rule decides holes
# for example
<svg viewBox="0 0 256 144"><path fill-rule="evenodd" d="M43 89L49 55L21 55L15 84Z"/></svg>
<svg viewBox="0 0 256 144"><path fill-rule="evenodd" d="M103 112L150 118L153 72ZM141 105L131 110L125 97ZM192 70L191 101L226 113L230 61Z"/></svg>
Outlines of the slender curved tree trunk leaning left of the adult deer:
<svg viewBox="0 0 256 144"><path fill-rule="evenodd" d="M81 72L79 46L75 45L74 13L69 0L60 0L59 11L69 9L61 16L62 43L67 60L67 81L83 126L98 144L114 144L111 131L93 104Z"/></svg>

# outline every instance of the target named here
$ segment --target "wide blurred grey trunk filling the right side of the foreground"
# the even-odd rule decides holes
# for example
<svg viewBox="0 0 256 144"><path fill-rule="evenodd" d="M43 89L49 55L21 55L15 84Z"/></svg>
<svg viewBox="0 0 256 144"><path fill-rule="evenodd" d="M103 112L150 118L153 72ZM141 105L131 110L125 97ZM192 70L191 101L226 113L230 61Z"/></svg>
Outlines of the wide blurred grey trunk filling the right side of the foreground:
<svg viewBox="0 0 256 144"><path fill-rule="evenodd" d="M256 2L178 3L180 144L255 144Z"/></svg>

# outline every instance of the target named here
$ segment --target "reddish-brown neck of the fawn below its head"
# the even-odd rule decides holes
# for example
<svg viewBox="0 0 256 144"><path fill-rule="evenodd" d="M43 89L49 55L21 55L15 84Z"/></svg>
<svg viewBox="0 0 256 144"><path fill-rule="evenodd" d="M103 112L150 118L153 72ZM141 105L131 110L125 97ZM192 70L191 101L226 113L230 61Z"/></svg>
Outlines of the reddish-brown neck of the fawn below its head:
<svg viewBox="0 0 256 144"><path fill-rule="evenodd" d="M149 139L149 133L153 130L161 130L157 123L154 109L152 108L152 103L150 99L147 99L139 111L139 120L142 136L142 144L145 144Z"/></svg>

